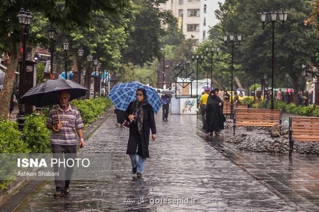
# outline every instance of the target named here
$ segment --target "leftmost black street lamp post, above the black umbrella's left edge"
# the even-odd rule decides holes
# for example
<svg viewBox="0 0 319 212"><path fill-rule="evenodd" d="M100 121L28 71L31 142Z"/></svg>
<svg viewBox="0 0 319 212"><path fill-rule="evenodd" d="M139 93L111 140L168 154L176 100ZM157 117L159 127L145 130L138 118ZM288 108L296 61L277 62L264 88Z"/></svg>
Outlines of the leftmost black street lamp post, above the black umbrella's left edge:
<svg viewBox="0 0 319 212"><path fill-rule="evenodd" d="M19 129L22 130L24 127L24 104L21 103L21 97L25 93L25 72L26 72L26 41L29 36L29 26L32 22L33 17L31 16L30 12L25 12L23 8L21 8L19 14L17 15L19 23L21 24L21 39L23 42L23 52L22 52L22 63L19 75Z"/></svg>

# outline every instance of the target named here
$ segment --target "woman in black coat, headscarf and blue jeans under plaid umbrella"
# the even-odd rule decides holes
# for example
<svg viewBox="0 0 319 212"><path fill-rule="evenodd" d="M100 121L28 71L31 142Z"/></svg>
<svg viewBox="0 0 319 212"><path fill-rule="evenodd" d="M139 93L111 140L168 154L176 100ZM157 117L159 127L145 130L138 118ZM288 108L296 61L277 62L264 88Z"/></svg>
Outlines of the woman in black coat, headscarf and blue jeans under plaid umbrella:
<svg viewBox="0 0 319 212"><path fill-rule="evenodd" d="M156 126L152 105L147 101L146 90L139 88L136 91L136 100L130 102L124 118L131 122L130 135L126 153L130 155L132 172L142 177L146 158L149 157L149 133L152 140L156 139ZM136 155L139 155L138 161Z"/></svg>

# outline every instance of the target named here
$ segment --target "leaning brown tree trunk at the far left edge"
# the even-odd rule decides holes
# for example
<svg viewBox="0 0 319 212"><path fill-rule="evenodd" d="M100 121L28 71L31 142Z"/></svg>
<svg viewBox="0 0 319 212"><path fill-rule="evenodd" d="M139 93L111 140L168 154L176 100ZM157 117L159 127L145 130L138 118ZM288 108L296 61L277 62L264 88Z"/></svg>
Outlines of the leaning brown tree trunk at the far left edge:
<svg viewBox="0 0 319 212"><path fill-rule="evenodd" d="M20 46L14 45L9 51L8 69L5 71L6 76L2 95L0 96L0 116L8 118L10 109L10 98L13 91L13 81L18 67Z"/></svg>

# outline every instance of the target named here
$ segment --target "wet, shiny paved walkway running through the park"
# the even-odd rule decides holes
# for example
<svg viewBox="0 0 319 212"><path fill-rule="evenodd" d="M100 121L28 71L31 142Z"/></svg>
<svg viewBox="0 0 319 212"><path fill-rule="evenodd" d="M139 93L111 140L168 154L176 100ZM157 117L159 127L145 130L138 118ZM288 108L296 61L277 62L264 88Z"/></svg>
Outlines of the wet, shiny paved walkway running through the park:
<svg viewBox="0 0 319 212"><path fill-rule="evenodd" d="M147 160L143 178L137 179L125 154L128 129L118 128L114 123L115 116L111 115L87 140L87 146L83 149L83 152L112 154L112 172L107 181L73 182L71 193L57 199L53 198L54 183L48 182L18 210L301 211L301 208L315 206L302 194L318 192L315 189L319 182L315 178L306 178L310 180L306 183L303 172L317 168L319 163L305 166L296 157L290 166L286 155L271 154L267 161L260 162L267 154L237 151L206 137L198 130L200 122L195 116L173 115L168 122L162 121L161 114L156 116L157 139L150 141L151 157ZM261 158L259 155L262 155ZM283 168L283 164L287 167ZM277 183L278 179L282 182ZM299 196L291 195L290 198L289 186L299 189ZM286 196L281 193L284 191L287 191ZM125 198L139 200L141 197L145 201L142 204L128 205L123 202ZM152 199L161 197L188 197L196 201L195 204L150 204ZM316 196L312 197L313 201L319 201ZM300 201L300 204L294 201Z"/></svg>

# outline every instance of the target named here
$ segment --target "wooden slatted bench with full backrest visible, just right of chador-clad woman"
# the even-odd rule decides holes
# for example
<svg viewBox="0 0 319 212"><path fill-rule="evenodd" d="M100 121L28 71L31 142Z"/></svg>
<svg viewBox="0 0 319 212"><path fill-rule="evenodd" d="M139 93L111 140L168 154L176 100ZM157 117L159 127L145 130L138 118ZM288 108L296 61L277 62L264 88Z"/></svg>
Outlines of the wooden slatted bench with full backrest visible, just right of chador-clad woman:
<svg viewBox="0 0 319 212"><path fill-rule="evenodd" d="M281 110L271 109L234 109L233 135L236 126L271 127L281 125Z"/></svg>

